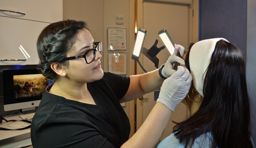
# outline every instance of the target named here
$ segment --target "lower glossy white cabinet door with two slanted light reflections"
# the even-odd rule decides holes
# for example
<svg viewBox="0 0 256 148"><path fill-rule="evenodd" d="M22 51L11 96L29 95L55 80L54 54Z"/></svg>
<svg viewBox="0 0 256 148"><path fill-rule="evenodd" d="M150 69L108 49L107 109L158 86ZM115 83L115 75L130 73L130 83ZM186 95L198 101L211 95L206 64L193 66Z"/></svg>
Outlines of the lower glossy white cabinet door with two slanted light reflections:
<svg viewBox="0 0 256 148"><path fill-rule="evenodd" d="M0 17L0 59L26 61L0 61L0 65L38 64L36 41L50 23Z"/></svg>

